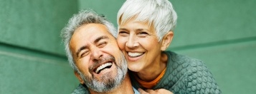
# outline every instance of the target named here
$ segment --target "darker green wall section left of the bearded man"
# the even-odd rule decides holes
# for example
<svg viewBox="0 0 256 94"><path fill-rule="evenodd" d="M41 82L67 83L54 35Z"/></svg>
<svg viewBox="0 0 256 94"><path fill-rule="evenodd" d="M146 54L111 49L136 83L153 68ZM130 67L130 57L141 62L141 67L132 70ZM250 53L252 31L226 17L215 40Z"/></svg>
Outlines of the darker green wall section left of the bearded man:
<svg viewBox="0 0 256 94"><path fill-rule="evenodd" d="M60 31L77 1L0 0L0 93L71 93Z"/></svg>

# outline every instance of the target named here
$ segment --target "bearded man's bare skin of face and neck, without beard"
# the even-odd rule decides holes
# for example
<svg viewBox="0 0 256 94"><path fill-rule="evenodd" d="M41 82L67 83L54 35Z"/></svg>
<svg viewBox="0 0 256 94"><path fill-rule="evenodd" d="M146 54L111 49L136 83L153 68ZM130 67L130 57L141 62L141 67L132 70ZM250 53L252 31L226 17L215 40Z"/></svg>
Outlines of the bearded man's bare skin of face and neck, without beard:
<svg viewBox="0 0 256 94"><path fill-rule="evenodd" d="M117 61L117 58L120 58L121 52L115 38L103 24L89 23L77 28L70 40L70 50L78 70L84 75L101 82L108 81L103 80L103 78L114 78L118 75L116 70L117 66L120 66L120 61ZM111 68L95 73L95 68L98 68L100 65L94 66L95 62L93 61L108 56L115 57L116 63L113 63ZM75 75L81 84L85 83L78 73L75 72ZM89 90L90 93L96 93L90 88ZM126 73L125 79L120 83L120 86L109 93L133 93L128 73Z"/></svg>

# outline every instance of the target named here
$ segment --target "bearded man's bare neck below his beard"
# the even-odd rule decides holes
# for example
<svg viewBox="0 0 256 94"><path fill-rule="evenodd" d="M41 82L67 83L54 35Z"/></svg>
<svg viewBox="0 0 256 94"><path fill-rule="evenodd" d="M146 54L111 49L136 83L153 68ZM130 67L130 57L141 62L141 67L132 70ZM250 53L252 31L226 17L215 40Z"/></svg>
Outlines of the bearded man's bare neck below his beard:
<svg viewBox="0 0 256 94"><path fill-rule="evenodd" d="M89 89L90 90L90 89ZM107 93L98 93L90 90L90 94L134 94L133 87L131 85L131 80L128 73L125 75L125 79L120 83L120 85Z"/></svg>

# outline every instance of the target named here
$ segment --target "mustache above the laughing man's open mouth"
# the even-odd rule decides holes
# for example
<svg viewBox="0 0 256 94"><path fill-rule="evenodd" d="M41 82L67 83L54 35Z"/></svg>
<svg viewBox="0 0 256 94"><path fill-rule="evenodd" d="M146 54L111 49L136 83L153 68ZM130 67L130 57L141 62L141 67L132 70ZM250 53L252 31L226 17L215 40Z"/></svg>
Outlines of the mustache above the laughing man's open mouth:
<svg viewBox="0 0 256 94"><path fill-rule="evenodd" d="M90 73L93 73L93 69L95 69L95 67L98 67L108 61L113 61L113 63L115 63L115 57L114 56L106 56L104 58L100 58L99 60L93 61L93 65L91 65L89 68Z"/></svg>

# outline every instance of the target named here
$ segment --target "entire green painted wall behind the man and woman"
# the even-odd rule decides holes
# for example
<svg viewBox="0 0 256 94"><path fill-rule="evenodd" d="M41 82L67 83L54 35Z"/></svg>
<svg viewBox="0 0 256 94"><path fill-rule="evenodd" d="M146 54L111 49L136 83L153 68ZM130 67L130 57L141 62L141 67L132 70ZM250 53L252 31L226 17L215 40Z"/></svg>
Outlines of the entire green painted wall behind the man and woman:
<svg viewBox="0 0 256 94"><path fill-rule="evenodd" d="M60 30L80 9L116 26L125 0L0 0L0 93L71 93ZM222 93L256 93L256 1L170 0L178 25L169 50L204 61Z"/></svg>

